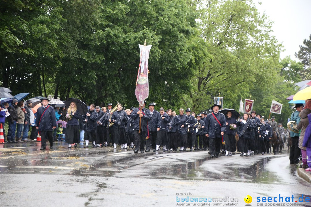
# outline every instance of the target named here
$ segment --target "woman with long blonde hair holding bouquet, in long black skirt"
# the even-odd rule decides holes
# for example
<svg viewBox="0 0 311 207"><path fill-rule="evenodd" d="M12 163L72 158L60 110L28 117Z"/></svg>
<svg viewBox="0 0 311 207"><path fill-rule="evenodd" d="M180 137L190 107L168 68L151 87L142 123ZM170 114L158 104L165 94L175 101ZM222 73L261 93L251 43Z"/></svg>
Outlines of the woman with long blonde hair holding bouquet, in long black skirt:
<svg viewBox="0 0 311 207"><path fill-rule="evenodd" d="M77 147L77 143L80 143L80 127L79 120L80 114L77 109L76 102L71 102L67 110L66 118L68 119L66 125L66 143L69 144L68 148L71 148L71 145Z"/></svg>

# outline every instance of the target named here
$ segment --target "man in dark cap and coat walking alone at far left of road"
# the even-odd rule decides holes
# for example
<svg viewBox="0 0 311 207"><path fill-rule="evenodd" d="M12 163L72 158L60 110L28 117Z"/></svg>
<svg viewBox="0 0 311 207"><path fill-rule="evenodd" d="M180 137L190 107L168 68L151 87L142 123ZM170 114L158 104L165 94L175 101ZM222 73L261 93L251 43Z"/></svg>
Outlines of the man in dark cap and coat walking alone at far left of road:
<svg viewBox="0 0 311 207"><path fill-rule="evenodd" d="M37 110L36 113L36 129L39 130L41 135L41 148L40 150L45 150L46 138L49 139L50 149L53 149L53 131L57 127L55 110L52 106L49 106L49 99L43 98L41 100L42 105Z"/></svg>

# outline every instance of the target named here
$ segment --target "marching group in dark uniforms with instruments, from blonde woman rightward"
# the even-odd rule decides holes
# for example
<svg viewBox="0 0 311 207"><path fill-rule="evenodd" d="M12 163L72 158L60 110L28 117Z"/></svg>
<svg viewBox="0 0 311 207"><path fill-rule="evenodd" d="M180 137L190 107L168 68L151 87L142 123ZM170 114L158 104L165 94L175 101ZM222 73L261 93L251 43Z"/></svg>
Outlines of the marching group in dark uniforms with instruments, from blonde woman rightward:
<svg viewBox="0 0 311 207"><path fill-rule="evenodd" d="M68 108L70 120L67 123L66 142L77 147L79 140L78 119L84 123L86 145L106 147L110 143L117 149L134 149L135 153L159 151L209 150L211 158L221 152L232 156L238 150L240 156L249 156L269 152L272 127L261 119L256 112L244 113L242 119L234 117L233 111L220 113L220 106L211 106L211 113L201 112L195 115L190 108L175 111L160 108L155 110L156 103L150 103L148 109L143 106L123 110L118 104L112 109L109 103L100 108L90 105L86 115L79 115L77 104L72 102ZM238 120L237 120L238 119ZM236 149L237 148L237 149Z"/></svg>

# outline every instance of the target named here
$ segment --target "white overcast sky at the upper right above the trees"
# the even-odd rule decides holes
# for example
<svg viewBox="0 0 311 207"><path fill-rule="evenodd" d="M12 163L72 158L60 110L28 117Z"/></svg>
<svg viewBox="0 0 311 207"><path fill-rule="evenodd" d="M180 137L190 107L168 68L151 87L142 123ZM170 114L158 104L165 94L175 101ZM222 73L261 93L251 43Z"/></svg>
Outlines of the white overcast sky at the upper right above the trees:
<svg viewBox="0 0 311 207"><path fill-rule="evenodd" d="M284 46L281 58L295 58L299 45L311 34L311 0L253 0L257 9L274 21L273 35ZM259 5L258 2L262 4Z"/></svg>

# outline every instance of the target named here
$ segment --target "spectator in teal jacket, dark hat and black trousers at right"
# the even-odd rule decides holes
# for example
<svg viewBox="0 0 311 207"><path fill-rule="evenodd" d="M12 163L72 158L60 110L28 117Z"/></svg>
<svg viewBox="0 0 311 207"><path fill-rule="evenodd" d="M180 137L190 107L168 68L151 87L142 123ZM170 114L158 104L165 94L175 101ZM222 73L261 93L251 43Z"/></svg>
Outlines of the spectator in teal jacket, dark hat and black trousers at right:
<svg viewBox="0 0 311 207"><path fill-rule="evenodd" d="M296 108L296 110L291 114L290 120L295 121L298 125L300 121L299 113L304 109L304 105L296 104L294 108ZM299 133L290 131L290 138L292 140L292 145L290 147L290 164L298 164L300 156L300 149L298 147Z"/></svg>

